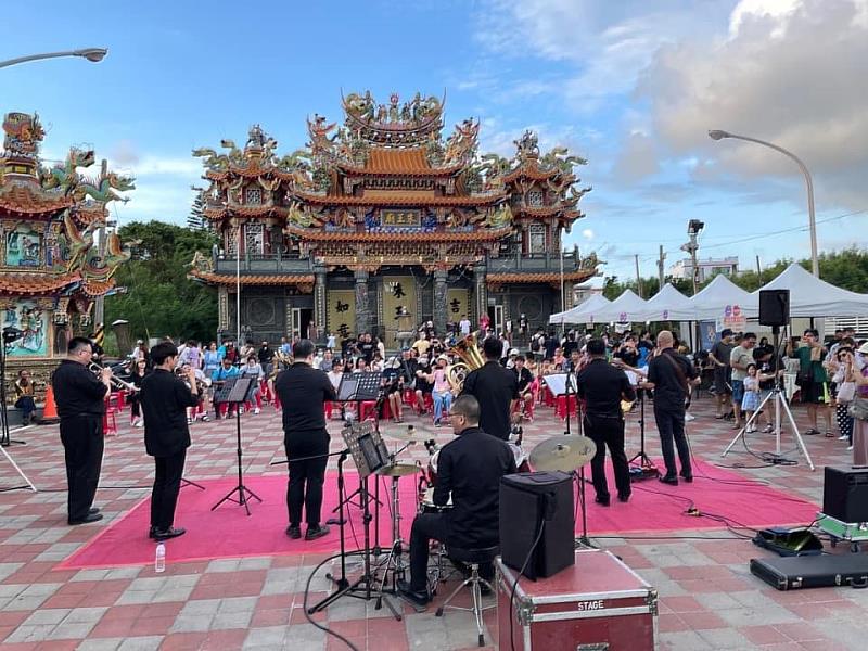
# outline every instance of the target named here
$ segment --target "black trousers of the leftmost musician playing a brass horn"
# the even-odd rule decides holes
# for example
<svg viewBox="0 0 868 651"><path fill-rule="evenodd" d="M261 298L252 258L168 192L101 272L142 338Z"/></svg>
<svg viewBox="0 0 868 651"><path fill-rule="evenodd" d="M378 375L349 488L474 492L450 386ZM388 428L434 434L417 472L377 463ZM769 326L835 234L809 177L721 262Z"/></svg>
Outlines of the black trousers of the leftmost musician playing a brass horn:
<svg viewBox="0 0 868 651"><path fill-rule="evenodd" d="M84 520L93 505L100 483L104 439L102 416L72 416L61 419L61 443L66 461L68 522Z"/></svg>

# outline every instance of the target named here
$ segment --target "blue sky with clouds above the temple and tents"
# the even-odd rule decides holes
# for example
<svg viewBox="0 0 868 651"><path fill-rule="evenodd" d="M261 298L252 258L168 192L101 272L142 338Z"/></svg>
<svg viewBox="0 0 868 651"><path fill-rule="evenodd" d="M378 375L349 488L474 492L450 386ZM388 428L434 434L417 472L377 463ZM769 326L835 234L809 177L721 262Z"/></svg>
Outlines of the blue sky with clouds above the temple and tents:
<svg viewBox="0 0 868 651"><path fill-rule="evenodd" d="M341 117L341 89L445 89L447 128L481 118L483 152L511 154L533 128L588 158L593 191L567 242L596 250L605 275L633 276L634 254L655 273L660 244L668 267L691 218L706 224L700 257L807 256L795 166L710 128L796 152L820 250L868 245L868 0L132 4L42 3L0 46L0 59L110 49L95 65L1 68L0 110L39 112L46 157L88 143L135 174L120 224L186 220L194 146L259 123L289 153L307 115Z"/></svg>

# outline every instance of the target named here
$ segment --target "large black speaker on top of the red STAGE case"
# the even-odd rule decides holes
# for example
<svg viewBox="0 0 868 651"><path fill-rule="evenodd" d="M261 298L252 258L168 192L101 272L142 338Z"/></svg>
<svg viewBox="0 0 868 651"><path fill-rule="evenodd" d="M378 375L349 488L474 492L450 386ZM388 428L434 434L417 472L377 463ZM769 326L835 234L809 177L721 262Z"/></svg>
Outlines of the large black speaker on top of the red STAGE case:
<svg viewBox="0 0 868 651"><path fill-rule="evenodd" d="M572 565L574 549L572 475L522 472L500 480L500 557L506 565L516 571L524 566L524 576L536 580Z"/></svg>

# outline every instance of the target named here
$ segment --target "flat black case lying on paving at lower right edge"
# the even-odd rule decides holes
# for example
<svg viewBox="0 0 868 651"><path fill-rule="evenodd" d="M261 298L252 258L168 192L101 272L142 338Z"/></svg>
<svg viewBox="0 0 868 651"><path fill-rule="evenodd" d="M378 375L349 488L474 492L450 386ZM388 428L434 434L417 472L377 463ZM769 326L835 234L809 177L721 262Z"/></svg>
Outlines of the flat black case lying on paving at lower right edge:
<svg viewBox="0 0 868 651"><path fill-rule="evenodd" d="M868 587L868 556L860 553L751 559L751 573L778 590Z"/></svg>

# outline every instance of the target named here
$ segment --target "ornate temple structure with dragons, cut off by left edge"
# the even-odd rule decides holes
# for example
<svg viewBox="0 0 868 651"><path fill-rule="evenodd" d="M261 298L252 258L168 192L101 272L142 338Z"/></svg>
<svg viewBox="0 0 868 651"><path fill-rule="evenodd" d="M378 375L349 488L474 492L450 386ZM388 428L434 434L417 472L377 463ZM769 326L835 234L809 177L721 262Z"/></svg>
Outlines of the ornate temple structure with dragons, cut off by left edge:
<svg viewBox="0 0 868 651"><path fill-rule="evenodd" d="M3 132L0 310L4 332L18 337L5 348L7 381L26 367L40 386L66 354L66 342L93 329L94 301L115 289L114 272L130 257L115 233L101 244L98 231L106 224L106 204L135 186L105 162L86 176L95 161L90 150L73 148L65 161L43 167L37 115L7 114Z"/></svg>

